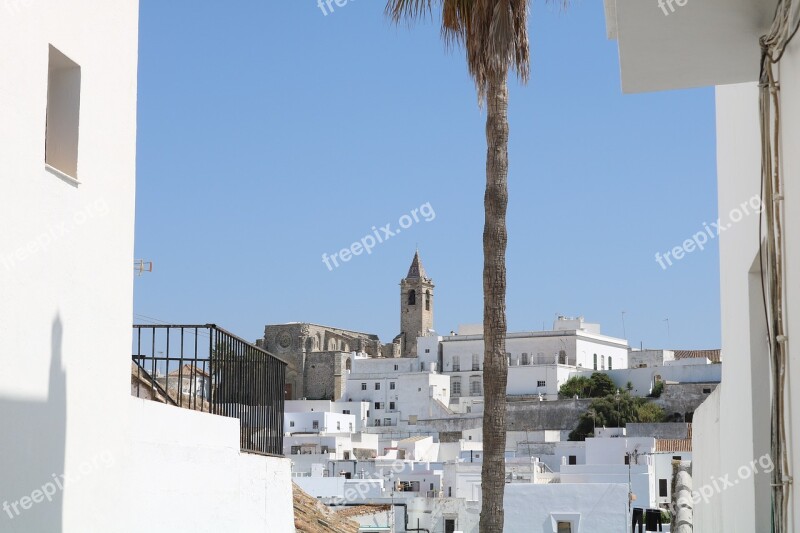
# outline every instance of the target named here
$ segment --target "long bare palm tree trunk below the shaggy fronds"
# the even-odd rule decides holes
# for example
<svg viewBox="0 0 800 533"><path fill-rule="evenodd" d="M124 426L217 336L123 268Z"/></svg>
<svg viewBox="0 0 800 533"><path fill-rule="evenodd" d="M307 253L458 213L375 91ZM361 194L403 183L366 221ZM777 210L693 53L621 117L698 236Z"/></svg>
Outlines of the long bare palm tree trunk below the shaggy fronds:
<svg viewBox="0 0 800 533"><path fill-rule="evenodd" d="M486 94L486 194L483 227L483 465L481 533L503 531L506 448L506 207L508 205L507 76Z"/></svg>

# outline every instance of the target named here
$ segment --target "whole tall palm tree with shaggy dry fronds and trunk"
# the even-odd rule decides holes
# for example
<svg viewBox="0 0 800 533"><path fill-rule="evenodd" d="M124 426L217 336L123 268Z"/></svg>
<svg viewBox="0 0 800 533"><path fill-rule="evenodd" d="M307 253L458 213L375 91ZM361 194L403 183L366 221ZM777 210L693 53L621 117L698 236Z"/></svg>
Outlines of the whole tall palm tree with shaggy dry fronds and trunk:
<svg viewBox="0 0 800 533"><path fill-rule="evenodd" d="M481 533L503 531L506 444L506 208L508 206L508 76L527 81L528 0L388 0L394 22L441 11L447 45L461 45L486 105L486 193L483 227L484 416Z"/></svg>

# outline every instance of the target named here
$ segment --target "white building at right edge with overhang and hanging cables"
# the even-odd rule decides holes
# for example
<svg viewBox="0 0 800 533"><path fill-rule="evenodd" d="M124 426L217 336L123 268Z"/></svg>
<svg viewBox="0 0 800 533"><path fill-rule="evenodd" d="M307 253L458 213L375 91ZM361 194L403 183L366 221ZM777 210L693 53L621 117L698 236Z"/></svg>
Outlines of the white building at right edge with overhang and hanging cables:
<svg viewBox="0 0 800 533"><path fill-rule="evenodd" d="M695 531L701 532L771 530L771 500L776 493L786 498L783 530L800 529L800 491L786 483L788 476L796 477L800 471L800 440L794 431L800 420L800 398L786 393L786 411L776 424L786 428L788 468L781 475L782 458L773 456L770 444L771 405L779 403L773 398L779 389L770 365L775 352L765 341L783 342L787 360L796 359L791 339L800 337L800 322L795 320L800 313L800 281L795 275L800 271L800 244L793 233L800 227L795 217L800 214L800 188L795 188L800 151L794 148L800 142L797 39L788 44L774 68L780 85L776 97L781 107L780 138L773 137L770 144L782 149L777 170L784 187L774 195L775 203L764 204L779 206L783 216L781 340L774 331L767 331L765 318L765 300L772 304L777 295L764 298L762 294L762 280L769 286L772 279L767 272L762 276L763 261L770 255L762 243L773 224L760 212L764 190L771 189L762 187L761 172L762 163L766 167L774 157L762 160L758 84L762 64L770 63L762 63L759 39L769 33L777 4L774 0L708 0L672 4L674 12L662 13L647 2L606 1L609 35L619 44L624 91L716 86L718 208L722 224L729 225L718 235L726 364L723 385L695 413L692 475L695 488L711 487L715 479L725 476L736 483L714 490L712 497L695 505ZM781 5L791 6L793 13L785 39L795 29L797 2ZM776 116L773 106L770 119L764 121L765 131L776 131L772 121ZM800 367L790 366L785 376L784 390L789 391L792 383L800 382Z"/></svg>

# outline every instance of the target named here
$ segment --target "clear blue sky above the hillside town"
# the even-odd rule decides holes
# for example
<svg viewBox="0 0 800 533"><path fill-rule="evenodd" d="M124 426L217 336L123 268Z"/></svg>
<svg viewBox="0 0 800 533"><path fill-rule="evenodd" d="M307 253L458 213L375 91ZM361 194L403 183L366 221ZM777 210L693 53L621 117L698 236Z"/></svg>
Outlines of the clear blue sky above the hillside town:
<svg viewBox="0 0 800 533"><path fill-rule="evenodd" d="M308 321L399 330L418 245L435 326L482 320L485 115L463 53L381 0L141 1L134 312L256 339ZM532 76L510 96L508 324L583 315L632 345L719 344L710 88L623 95L602 2L535 2ZM669 50L664 50L668 56ZM429 203L332 271L331 255ZM669 318L670 334L667 334Z"/></svg>

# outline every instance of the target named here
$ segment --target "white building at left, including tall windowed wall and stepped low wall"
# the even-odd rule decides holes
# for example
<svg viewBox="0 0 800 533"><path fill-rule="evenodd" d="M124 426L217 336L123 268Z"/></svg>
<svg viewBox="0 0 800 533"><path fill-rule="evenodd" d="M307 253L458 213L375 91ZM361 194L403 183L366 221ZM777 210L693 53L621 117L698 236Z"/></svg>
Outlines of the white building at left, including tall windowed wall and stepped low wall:
<svg viewBox="0 0 800 533"><path fill-rule="evenodd" d="M130 394L138 15L2 8L0 530L291 531L288 460Z"/></svg>

